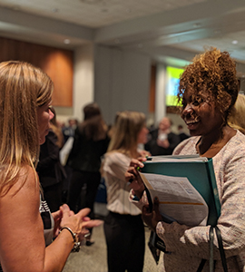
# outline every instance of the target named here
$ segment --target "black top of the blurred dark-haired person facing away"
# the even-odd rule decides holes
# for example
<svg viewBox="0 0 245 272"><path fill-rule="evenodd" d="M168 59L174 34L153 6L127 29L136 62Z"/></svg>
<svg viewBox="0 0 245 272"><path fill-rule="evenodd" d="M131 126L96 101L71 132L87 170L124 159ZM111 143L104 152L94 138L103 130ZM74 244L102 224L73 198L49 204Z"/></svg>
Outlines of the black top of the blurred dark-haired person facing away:
<svg viewBox="0 0 245 272"><path fill-rule="evenodd" d="M83 132L77 128L75 130L73 148L67 160L67 165L73 170L89 172L99 171L101 168L101 157L107 151L109 137L103 140L88 140Z"/></svg>

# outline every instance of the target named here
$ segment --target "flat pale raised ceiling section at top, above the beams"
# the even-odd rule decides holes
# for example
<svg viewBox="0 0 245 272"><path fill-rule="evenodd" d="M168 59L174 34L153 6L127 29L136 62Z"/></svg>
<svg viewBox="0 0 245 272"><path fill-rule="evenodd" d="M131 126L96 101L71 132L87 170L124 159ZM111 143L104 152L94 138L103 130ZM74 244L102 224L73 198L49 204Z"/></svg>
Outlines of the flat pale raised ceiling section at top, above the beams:
<svg viewBox="0 0 245 272"><path fill-rule="evenodd" d="M1 0L0 6L88 27L102 27L207 0Z"/></svg>

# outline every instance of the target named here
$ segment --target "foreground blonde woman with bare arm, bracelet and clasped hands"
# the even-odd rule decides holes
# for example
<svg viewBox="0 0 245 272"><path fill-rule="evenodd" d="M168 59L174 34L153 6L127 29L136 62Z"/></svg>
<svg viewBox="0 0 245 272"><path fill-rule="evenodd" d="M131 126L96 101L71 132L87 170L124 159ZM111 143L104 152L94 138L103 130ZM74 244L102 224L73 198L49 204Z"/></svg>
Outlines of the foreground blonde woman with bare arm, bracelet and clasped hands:
<svg viewBox="0 0 245 272"><path fill-rule="evenodd" d="M64 205L51 215L41 201L35 165L53 117L52 92L50 78L33 65L0 63L0 261L5 272L62 271L87 233L84 228L96 225L85 218L89 209L74 215Z"/></svg>

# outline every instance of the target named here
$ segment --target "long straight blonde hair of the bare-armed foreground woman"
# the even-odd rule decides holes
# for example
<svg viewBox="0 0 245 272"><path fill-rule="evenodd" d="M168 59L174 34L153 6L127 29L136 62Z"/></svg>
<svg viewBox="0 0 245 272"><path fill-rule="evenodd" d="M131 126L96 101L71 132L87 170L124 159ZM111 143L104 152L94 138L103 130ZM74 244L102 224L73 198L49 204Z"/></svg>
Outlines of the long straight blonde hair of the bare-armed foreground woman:
<svg viewBox="0 0 245 272"><path fill-rule="evenodd" d="M33 169L39 155L36 109L51 101L51 79L30 63L0 63L0 194L18 180L20 170Z"/></svg>

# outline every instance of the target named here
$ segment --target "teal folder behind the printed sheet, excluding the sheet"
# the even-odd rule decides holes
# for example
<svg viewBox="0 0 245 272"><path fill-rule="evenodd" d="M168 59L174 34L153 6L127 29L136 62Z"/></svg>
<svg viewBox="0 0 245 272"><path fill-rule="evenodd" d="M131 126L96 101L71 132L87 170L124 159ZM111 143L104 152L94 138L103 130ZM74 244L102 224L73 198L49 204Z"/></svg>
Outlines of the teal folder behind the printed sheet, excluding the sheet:
<svg viewBox="0 0 245 272"><path fill-rule="evenodd" d="M195 160L195 156L162 156L162 159L179 159L178 161L153 161L153 158L144 162L141 172L186 177L208 205L207 225L216 226L220 217L220 199L212 160Z"/></svg>

